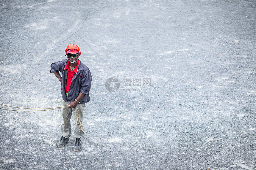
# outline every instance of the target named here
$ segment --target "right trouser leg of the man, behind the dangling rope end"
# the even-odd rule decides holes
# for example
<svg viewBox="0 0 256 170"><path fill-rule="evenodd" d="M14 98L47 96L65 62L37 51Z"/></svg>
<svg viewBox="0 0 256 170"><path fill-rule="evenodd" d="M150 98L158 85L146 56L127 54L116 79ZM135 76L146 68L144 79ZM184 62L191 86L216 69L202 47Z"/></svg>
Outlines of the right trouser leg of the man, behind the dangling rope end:
<svg viewBox="0 0 256 170"><path fill-rule="evenodd" d="M77 104L77 108L79 111L80 122L81 122L81 125L83 126L83 117L84 117L83 112L85 109L85 104ZM76 122L76 117L77 117L77 109L76 108L73 109L73 115L74 115L74 120ZM81 130L79 132L79 127L76 126L75 130L74 130L74 137L80 138L80 137L83 137L84 135L85 135L85 132L83 130Z"/></svg>

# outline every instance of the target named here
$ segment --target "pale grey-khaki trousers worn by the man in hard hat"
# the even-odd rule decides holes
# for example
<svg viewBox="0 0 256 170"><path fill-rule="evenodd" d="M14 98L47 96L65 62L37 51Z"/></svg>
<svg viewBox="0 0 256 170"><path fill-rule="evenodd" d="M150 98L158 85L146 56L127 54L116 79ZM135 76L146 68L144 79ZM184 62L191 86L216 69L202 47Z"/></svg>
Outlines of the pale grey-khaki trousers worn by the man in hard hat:
<svg viewBox="0 0 256 170"><path fill-rule="evenodd" d="M66 106L68 104L68 102L62 100L62 106ZM81 125L83 126L83 112L85 109L85 104L77 104L77 108L79 110L79 117L80 117L80 121L81 121ZM61 136L68 138L71 136L71 124L70 124L70 120L71 120L71 116L72 116L72 112L74 115L74 120L76 122L76 116L77 116L77 110L76 108L72 109L72 108L63 108L62 109L62 118L63 118L63 122L61 123ZM76 124L76 123L75 123ZM75 138L80 138L83 137L85 135L85 132L83 130L81 130L79 132L79 127L76 126L75 130L74 130L74 137Z"/></svg>

